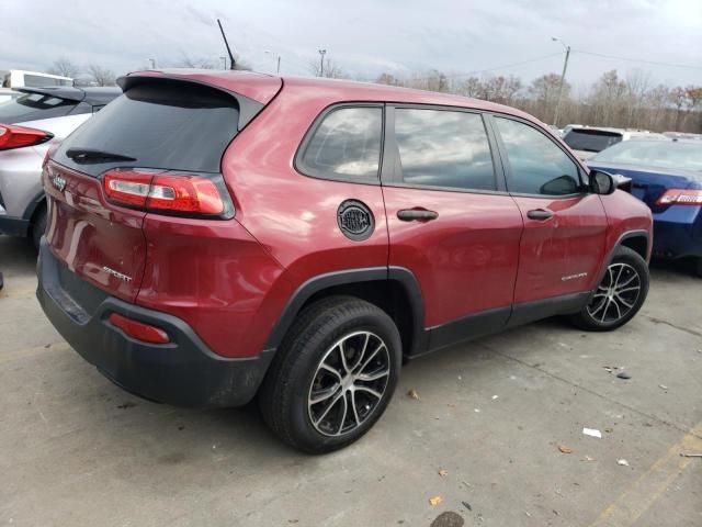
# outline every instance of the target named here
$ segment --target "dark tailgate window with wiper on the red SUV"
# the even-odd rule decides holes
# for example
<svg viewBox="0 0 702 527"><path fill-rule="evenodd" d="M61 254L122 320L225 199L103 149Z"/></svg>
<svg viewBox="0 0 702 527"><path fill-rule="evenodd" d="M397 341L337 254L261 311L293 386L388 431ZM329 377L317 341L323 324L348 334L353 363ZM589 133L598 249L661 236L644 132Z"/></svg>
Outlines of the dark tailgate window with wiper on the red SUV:
<svg viewBox="0 0 702 527"><path fill-rule="evenodd" d="M115 167L219 172L238 122L236 99L219 90L136 86L65 139L54 160L92 176Z"/></svg>

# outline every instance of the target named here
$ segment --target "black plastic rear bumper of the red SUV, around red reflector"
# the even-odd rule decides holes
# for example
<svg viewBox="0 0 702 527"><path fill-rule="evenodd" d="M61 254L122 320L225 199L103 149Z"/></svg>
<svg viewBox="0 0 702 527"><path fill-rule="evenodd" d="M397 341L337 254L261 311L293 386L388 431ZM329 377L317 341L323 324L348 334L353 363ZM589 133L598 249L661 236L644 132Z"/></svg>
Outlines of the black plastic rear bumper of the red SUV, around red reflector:
<svg viewBox="0 0 702 527"><path fill-rule="evenodd" d="M61 336L106 378L144 399L179 406L239 406L253 397L273 357L274 350L247 359L214 354L180 318L109 296L70 273L45 239L37 273L38 301ZM171 341L135 340L107 322L111 313L157 325Z"/></svg>

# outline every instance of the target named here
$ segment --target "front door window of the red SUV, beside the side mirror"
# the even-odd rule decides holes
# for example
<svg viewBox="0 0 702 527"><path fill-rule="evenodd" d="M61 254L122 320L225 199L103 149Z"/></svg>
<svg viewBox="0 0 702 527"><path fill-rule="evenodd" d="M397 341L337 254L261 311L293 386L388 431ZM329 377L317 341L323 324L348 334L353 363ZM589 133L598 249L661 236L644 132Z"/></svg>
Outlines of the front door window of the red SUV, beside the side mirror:
<svg viewBox="0 0 702 527"><path fill-rule="evenodd" d="M502 117L496 121L507 148L510 192L546 195L578 192L577 165L548 137L517 121Z"/></svg>

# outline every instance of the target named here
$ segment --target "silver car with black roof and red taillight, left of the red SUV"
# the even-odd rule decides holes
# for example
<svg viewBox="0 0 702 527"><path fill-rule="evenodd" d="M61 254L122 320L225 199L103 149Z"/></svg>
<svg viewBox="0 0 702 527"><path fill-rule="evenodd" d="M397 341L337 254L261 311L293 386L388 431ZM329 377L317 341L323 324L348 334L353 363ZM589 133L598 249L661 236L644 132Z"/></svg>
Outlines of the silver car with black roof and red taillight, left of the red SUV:
<svg viewBox="0 0 702 527"><path fill-rule="evenodd" d="M118 88L20 88L0 104L0 234L38 240L46 227L42 160L53 145L122 91Z"/></svg>

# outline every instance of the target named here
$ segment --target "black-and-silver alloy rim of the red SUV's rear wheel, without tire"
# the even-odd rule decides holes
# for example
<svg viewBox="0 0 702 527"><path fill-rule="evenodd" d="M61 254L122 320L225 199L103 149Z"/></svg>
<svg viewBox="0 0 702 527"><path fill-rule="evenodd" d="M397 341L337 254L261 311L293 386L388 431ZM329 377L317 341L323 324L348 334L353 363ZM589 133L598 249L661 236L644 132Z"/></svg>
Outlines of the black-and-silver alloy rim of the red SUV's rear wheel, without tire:
<svg viewBox="0 0 702 527"><path fill-rule="evenodd" d="M360 427L378 407L390 377L387 345L371 332L337 340L322 356L307 396L309 419L325 436Z"/></svg>

